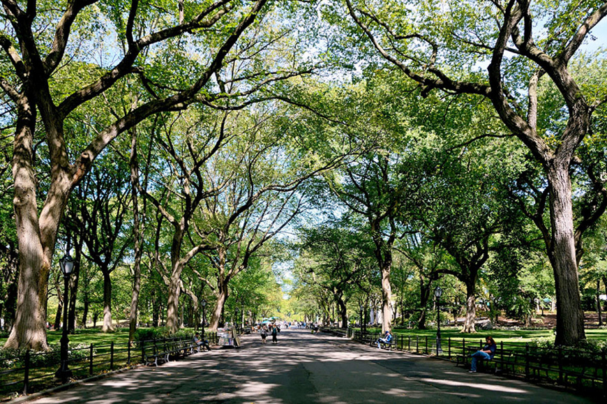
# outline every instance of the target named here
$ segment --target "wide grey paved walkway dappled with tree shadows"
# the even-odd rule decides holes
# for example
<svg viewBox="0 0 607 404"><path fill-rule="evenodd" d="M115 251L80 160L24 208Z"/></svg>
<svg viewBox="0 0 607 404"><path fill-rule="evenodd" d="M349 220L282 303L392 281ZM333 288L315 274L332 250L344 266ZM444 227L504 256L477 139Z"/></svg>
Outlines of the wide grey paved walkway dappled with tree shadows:
<svg viewBox="0 0 607 404"><path fill-rule="evenodd" d="M285 330L278 344L245 336L238 350L135 368L41 403L592 403L520 380L470 374L447 361L378 351L343 338Z"/></svg>

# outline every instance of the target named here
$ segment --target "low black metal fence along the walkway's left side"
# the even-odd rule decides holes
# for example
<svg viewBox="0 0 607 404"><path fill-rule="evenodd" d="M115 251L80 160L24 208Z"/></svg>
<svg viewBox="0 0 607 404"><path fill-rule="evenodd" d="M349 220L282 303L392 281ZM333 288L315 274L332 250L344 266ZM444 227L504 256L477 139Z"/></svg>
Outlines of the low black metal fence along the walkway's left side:
<svg viewBox="0 0 607 404"><path fill-rule="evenodd" d="M217 333L205 333L210 343L218 343ZM78 345L70 347L68 368L71 380L82 380L93 375L107 373L144 363L142 346L146 343L168 343L192 341L191 338L165 338L153 341L135 341L133 345L117 346L114 343L103 345ZM55 373L61 366L59 351L31 352L13 357L0 357L0 400L16 397L20 394L32 394L61 385Z"/></svg>

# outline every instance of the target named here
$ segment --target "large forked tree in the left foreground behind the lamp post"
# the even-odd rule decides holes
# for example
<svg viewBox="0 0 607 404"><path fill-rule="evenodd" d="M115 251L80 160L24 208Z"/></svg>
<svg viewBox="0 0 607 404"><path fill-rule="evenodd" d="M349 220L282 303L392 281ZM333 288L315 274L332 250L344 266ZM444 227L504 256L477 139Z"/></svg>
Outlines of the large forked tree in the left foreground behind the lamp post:
<svg viewBox="0 0 607 404"><path fill-rule="evenodd" d="M0 88L15 107L12 167L20 253L17 285L20 298L15 327L6 347L34 350L47 347L44 327L47 278L57 229L71 190L87 174L93 160L114 138L152 114L183 109L194 102L215 100L220 91L214 93L210 88L211 77L223 68L225 59L248 27L262 17L266 3L267 0L254 3L218 0L184 4L189 7L190 18L179 23L173 10L156 8L152 3L138 0L125 5L123 13L114 13L113 4L110 6L105 1L96 0L68 1L60 7L50 8L41 1L2 1L2 19L8 29L0 36L0 46L3 62L8 61L12 70L10 73L3 70ZM87 15L91 17L87 18ZM102 60L96 72L90 76L70 77L69 85L66 80L55 81L54 75L60 74L59 66L84 56L78 54L84 48L70 40L80 36L82 40L91 38L94 42L104 35L95 29L98 20L112 22L112 29L123 45L114 48L118 63L111 68L103 68ZM47 25L54 25L54 31L45 29ZM207 30L211 27L216 29ZM158 31L153 31L156 28ZM140 34L139 38L135 38L136 33ZM201 51L198 55L211 56L205 61L198 58L199 68L192 70L194 79L192 76L186 79L176 71L172 78L183 77L183 80L175 80L177 85L161 84L153 89L158 76L142 63L145 52L151 47L158 49L158 45L186 33L195 33L196 47ZM176 66L181 67L183 63ZM68 154L64 130L66 119L90 100L103 96L120 80L133 75L140 77L142 89L147 89L144 90L148 94L147 99L114 121L100 122L102 127L89 144ZM89 81L83 82L83 79ZM200 91L207 86L209 91ZM38 209L37 202L38 167L34 140L39 121L43 125L43 142L48 148L50 167L50 187L41 209ZM73 160L70 160L70 155Z"/></svg>

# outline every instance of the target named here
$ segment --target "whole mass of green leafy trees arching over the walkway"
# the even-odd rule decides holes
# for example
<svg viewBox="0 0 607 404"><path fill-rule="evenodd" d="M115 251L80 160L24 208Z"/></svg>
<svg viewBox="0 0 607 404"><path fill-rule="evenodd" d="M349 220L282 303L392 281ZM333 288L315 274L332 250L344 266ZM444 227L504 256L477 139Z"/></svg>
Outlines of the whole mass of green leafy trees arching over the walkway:
<svg viewBox="0 0 607 404"><path fill-rule="evenodd" d="M557 344L585 338L607 242L606 59L585 44L607 3L0 1L7 347L45 349L56 251L76 250L85 317L103 278L111 329L112 271L133 268L132 327L141 290L175 332L202 299L212 328L274 304L296 227L325 319L380 304L389 329L393 294L404 322L453 276L473 331L478 286L510 274L496 304L554 282Z"/></svg>

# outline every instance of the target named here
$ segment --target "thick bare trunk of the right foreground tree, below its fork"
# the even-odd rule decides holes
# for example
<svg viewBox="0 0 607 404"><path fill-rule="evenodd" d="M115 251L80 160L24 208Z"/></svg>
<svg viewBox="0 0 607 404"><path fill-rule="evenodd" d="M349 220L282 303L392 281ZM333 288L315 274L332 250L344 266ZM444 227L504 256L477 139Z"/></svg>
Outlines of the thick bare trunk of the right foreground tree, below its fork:
<svg viewBox="0 0 607 404"><path fill-rule="evenodd" d="M569 164L550 167L550 224L553 246L548 253L553 265L557 295L555 345L576 345L584 340L584 315L580 299Z"/></svg>

